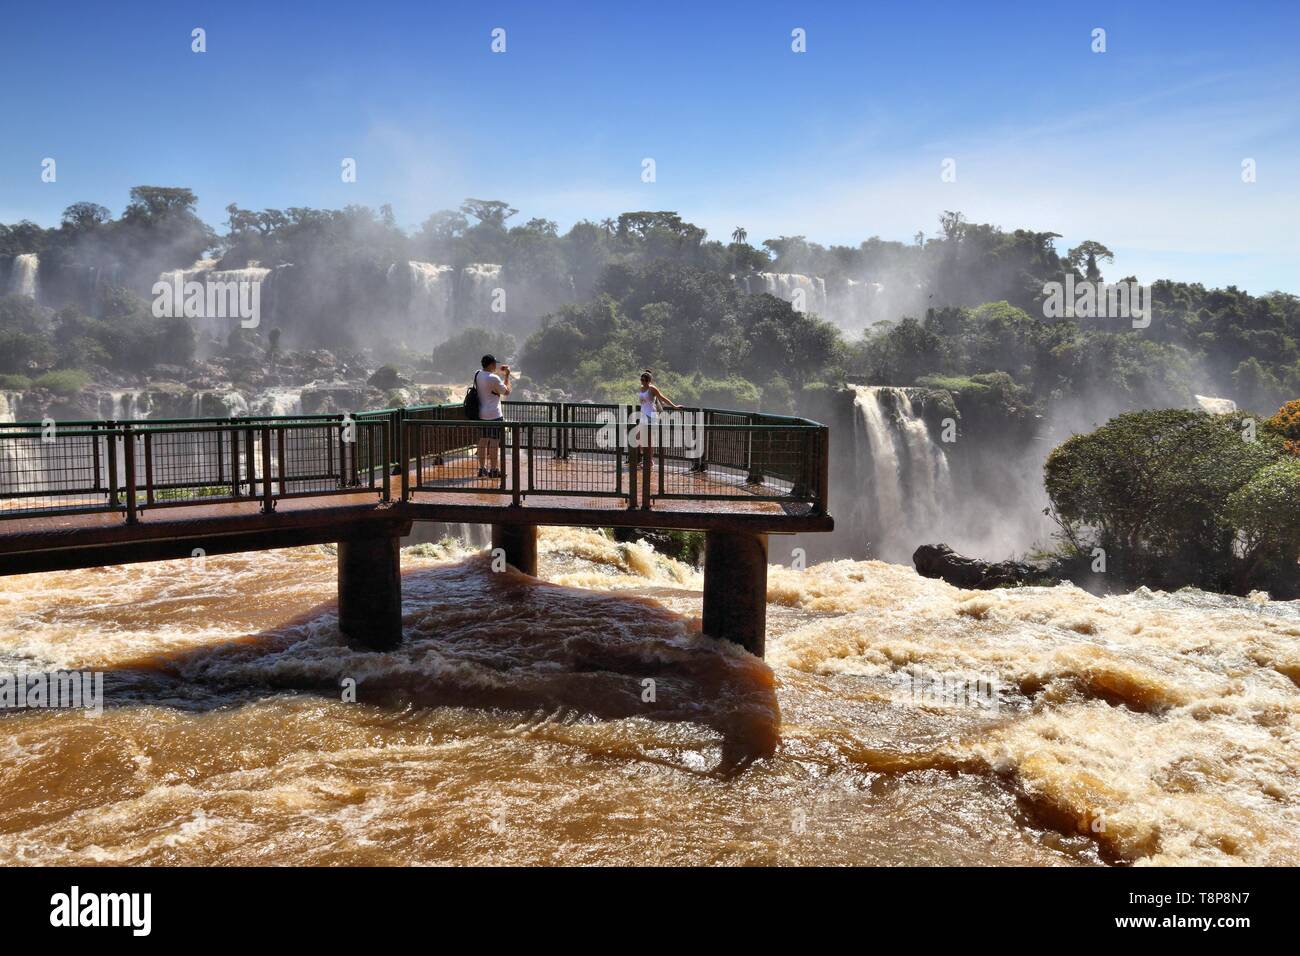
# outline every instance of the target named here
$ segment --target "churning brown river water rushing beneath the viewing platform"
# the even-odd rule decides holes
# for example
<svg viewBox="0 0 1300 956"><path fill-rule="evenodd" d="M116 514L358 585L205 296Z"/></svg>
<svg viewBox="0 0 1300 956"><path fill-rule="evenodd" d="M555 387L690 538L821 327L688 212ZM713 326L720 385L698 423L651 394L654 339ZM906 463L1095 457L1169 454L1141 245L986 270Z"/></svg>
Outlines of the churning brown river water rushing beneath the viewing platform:
<svg viewBox="0 0 1300 956"><path fill-rule="evenodd" d="M541 546L408 549L391 653L326 548L5 579L0 671L107 676L0 714L0 864L1300 862L1300 602L774 567L763 662Z"/></svg>

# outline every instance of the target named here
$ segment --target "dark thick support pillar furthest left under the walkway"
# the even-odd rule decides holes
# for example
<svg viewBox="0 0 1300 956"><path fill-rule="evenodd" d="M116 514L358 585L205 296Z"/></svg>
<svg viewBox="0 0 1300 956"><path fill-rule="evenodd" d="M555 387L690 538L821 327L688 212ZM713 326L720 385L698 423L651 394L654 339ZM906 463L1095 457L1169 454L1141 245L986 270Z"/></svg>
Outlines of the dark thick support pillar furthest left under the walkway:
<svg viewBox="0 0 1300 956"><path fill-rule="evenodd" d="M338 542L338 626L367 646L402 643L402 558L396 536Z"/></svg>

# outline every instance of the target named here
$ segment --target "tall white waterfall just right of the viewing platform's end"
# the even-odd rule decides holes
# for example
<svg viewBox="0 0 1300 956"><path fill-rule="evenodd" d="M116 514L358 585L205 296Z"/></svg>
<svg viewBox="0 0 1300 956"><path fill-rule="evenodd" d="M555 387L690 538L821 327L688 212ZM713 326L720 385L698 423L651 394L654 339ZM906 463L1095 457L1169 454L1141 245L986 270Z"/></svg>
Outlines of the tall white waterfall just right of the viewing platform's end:
<svg viewBox="0 0 1300 956"><path fill-rule="evenodd" d="M875 557L905 562L918 545L944 538L953 519L948 455L906 389L854 386L857 481L850 524ZM949 528L950 531L950 528Z"/></svg>

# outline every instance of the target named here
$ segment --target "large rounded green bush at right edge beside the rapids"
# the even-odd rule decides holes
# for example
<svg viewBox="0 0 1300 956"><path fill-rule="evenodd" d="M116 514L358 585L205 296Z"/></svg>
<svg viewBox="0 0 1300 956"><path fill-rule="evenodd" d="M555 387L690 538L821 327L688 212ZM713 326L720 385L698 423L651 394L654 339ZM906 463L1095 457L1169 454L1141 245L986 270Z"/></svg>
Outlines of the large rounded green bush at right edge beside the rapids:
<svg viewBox="0 0 1300 956"><path fill-rule="evenodd" d="M1118 415L1048 457L1070 576L1300 594L1300 401L1277 415Z"/></svg>

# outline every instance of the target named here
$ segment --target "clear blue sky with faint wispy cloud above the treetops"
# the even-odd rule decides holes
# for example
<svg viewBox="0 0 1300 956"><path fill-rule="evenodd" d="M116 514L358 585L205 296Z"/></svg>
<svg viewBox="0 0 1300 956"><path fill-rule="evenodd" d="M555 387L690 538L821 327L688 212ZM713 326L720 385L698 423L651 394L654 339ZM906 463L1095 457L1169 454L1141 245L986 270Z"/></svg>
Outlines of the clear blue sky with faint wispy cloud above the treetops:
<svg viewBox="0 0 1300 956"><path fill-rule="evenodd" d="M0 35L0 221L140 183L214 225L238 202L415 226L473 195L827 245L961 209L1105 242L1110 277L1300 291L1297 38L1300 4L1199 0L27 4Z"/></svg>

